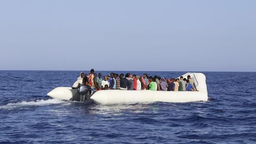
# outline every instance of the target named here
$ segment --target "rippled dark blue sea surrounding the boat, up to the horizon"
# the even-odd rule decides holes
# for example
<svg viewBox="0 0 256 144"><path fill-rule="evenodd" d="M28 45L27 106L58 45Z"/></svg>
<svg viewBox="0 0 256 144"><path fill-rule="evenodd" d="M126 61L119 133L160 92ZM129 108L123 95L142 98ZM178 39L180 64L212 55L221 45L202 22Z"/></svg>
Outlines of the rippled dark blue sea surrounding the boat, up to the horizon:
<svg viewBox="0 0 256 144"><path fill-rule="evenodd" d="M256 143L255 72L203 72L206 102L86 105L47 96L79 73L0 71L0 143Z"/></svg>

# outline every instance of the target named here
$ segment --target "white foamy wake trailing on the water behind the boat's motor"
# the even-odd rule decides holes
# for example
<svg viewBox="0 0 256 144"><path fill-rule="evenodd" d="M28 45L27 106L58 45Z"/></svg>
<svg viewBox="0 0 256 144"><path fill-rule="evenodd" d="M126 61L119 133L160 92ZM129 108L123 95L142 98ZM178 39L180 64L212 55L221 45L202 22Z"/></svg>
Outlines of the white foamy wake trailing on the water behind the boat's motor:
<svg viewBox="0 0 256 144"><path fill-rule="evenodd" d="M36 100L36 101L21 101L20 103L9 103L7 105L1 105L0 109L10 109L10 108L20 108L27 106L41 106L41 105L50 105L50 104L63 104L67 103L62 100L49 99L49 100Z"/></svg>

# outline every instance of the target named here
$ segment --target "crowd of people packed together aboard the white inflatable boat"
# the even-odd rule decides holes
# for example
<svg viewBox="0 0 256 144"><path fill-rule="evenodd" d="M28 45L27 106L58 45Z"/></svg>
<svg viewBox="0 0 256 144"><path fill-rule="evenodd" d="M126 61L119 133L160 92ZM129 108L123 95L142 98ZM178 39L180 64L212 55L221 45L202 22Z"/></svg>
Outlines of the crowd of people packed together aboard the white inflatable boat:
<svg viewBox="0 0 256 144"><path fill-rule="evenodd" d="M151 91L197 91L194 80L190 75L187 78L166 79L159 76L132 75L131 73L110 73L102 78L101 73L95 73L91 69L90 73L81 72L77 81L73 84L72 89L78 89L82 85L87 85L91 91L100 91L107 89L119 90L146 90Z"/></svg>

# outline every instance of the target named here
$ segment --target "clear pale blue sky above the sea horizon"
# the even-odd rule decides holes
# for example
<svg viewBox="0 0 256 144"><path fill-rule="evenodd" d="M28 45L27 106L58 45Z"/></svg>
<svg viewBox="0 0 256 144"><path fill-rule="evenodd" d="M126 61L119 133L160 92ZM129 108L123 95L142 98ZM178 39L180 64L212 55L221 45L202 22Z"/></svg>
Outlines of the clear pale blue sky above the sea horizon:
<svg viewBox="0 0 256 144"><path fill-rule="evenodd" d="M256 71L256 1L0 1L0 70Z"/></svg>

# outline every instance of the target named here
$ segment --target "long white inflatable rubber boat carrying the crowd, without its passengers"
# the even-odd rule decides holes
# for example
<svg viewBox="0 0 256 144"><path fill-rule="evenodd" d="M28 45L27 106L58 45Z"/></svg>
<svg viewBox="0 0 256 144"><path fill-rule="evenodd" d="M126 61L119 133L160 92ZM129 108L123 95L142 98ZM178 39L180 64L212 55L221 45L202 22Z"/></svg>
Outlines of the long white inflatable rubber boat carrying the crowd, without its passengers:
<svg viewBox="0 0 256 144"><path fill-rule="evenodd" d="M184 78L190 75L198 91L151 91L151 90L103 90L94 94L85 95L81 100L81 94L71 87L57 87L47 95L59 100L84 101L85 103L97 103L102 105L121 103L145 103L145 102L170 102L187 103L192 101L207 101L206 76L203 73L185 73Z"/></svg>

